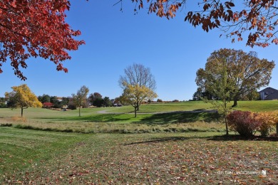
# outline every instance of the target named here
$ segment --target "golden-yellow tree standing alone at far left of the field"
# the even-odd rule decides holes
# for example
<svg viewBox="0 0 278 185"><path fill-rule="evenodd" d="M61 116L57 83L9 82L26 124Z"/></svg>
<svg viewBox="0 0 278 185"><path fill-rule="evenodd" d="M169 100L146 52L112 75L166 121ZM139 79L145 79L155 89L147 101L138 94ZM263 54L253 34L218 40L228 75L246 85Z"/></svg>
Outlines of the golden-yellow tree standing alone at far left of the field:
<svg viewBox="0 0 278 185"><path fill-rule="evenodd" d="M14 86L12 89L11 93L5 93L5 97L12 102L9 104L11 108L21 108L21 117L23 117L23 110L28 107L42 107L41 102L26 84Z"/></svg>

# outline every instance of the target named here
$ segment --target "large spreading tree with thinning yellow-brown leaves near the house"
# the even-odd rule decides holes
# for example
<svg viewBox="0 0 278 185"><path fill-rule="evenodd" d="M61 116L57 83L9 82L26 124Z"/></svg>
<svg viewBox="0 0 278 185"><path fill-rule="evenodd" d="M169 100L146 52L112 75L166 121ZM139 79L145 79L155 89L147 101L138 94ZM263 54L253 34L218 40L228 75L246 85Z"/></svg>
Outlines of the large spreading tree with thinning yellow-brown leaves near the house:
<svg viewBox="0 0 278 185"><path fill-rule="evenodd" d="M222 60L227 61L225 65ZM205 69L197 70L195 81L203 92L215 95L214 84L221 80L222 69L227 68L227 83L233 87L229 98L234 101L235 107L241 95L269 84L274 65L274 61L257 58L255 52L220 49L207 58Z"/></svg>

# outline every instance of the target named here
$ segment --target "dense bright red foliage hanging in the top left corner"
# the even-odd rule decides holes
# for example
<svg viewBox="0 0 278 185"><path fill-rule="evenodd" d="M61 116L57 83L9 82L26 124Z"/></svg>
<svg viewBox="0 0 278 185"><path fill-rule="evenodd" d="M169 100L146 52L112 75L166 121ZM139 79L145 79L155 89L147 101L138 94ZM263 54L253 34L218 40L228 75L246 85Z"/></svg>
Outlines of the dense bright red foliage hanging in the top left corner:
<svg viewBox="0 0 278 185"><path fill-rule="evenodd" d="M26 60L41 57L56 64L57 70L68 70L62 61L71 59L68 51L75 51L84 41L73 37L81 35L66 23L66 0L4 0L0 1L0 73L6 60L11 60L14 74L26 77L21 68Z"/></svg>

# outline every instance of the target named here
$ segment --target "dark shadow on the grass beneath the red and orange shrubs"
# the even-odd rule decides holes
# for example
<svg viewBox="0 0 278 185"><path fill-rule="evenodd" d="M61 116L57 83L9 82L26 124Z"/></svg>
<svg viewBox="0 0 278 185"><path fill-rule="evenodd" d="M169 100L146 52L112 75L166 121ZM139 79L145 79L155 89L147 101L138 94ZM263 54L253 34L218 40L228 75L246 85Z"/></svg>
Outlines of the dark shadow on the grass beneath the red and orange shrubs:
<svg viewBox="0 0 278 185"><path fill-rule="evenodd" d="M242 137L240 135L222 135L222 136L214 136L207 138L207 140L211 141L267 141L267 142L278 142L278 137L261 137L261 136L253 136L253 137Z"/></svg>

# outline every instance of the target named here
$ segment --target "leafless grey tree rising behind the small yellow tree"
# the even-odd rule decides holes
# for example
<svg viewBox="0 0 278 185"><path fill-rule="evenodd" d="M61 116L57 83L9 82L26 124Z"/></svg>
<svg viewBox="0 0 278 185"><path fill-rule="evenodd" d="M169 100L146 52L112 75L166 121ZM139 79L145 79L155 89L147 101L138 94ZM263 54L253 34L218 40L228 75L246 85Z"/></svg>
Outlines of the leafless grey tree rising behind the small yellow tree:
<svg viewBox="0 0 278 185"><path fill-rule="evenodd" d="M145 86L155 92L156 82L155 78L150 73L150 68L145 68L142 64L133 63L124 70L125 75L120 75L119 85L120 88L127 88L127 85ZM139 110L140 105L136 105Z"/></svg>

